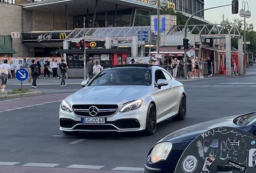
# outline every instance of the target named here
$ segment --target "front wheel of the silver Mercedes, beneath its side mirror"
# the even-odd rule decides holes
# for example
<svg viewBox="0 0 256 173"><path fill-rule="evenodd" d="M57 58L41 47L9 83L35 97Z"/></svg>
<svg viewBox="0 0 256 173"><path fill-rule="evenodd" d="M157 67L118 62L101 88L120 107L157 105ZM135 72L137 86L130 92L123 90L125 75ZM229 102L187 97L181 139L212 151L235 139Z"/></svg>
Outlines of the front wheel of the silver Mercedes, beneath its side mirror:
<svg viewBox="0 0 256 173"><path fill-rule="evenodd" d="M153 103L150 103L147 111L147 122L145 135L154 135L157 130L157 110Z"/></svg>

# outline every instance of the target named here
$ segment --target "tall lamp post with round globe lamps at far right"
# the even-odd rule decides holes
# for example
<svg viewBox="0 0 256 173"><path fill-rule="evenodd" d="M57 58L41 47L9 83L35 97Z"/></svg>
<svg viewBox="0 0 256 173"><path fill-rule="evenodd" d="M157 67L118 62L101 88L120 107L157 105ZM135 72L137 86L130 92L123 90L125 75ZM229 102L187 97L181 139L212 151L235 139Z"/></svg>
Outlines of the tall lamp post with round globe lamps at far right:
<svg viewBox="0 0 256 173"><path fill-rule="evenodd" d="M246 11L246 4L248 10ZM242 4L242 9L239 11L239 16L244 18L244 74L246 74L246 18L250 18L252 16L251 11L249 10L248 2L244 2Z"/></svg>

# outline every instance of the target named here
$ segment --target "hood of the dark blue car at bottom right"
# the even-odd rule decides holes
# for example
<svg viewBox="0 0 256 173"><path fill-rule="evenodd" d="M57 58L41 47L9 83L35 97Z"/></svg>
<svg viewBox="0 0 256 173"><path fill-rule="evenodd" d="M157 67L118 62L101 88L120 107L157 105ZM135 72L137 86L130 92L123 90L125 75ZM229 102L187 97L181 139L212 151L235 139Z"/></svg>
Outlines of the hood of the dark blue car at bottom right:
<svg viewBox="0 0 256 173"><path fill-rule="evenodd" d="M233 123L233 119L235 119L238 116L241 116L241 115L234 115L234 116L230 116L230 117L215 119L215 120L191 125L191 126L185 127L183 129L180 129L178 131L175 131L175 132L167 135L166 137L161 139L159 142L173 141L176 139L189 139L192 136L198 136L201 133L203 133L209 129L213 129L215 127L223 127L223 126L239 127Z"/></svg>

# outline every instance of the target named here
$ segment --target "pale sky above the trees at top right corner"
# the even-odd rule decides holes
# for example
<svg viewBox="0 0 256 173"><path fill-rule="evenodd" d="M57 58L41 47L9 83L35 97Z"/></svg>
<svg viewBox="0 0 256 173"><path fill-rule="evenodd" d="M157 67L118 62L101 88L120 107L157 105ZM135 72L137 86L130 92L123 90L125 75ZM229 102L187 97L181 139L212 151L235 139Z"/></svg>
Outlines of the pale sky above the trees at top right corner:
<svg viewBox="0 0 256 173"><path fill-rule="evenodd" d="M215 6L227 5L231 4L232 0L204 0L204 9L211 8ZM254 30L256 30L256 13L254 13L253 7L256 6L256 0L247 0L249 5L249 10L252 12L252 16L250 18L246 18L246 22L249 24L253 24ZM243 0L239 0L239 10L242 9ZM247 10L246 4L246 10ZM224 14L224 19L228 18L230 21L233 21L234 18L243 19L239 16L239 14L231 13L231 6L215 8L212 10L204 11L204 18L212 23L217 22L218 24L222 21L222 15Z"/></svg>

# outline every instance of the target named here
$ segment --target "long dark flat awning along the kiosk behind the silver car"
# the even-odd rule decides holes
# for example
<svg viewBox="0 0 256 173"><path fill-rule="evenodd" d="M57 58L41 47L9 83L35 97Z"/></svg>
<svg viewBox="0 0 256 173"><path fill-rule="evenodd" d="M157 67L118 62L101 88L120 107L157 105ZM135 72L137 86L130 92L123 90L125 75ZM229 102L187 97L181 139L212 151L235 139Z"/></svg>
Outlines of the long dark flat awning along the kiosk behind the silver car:
<svg viewBox="0 0 256 173"><path fill-rule="evenodd" d="M128 53L130 50L118 48L118 49L86 49L86 54L89 53ZM83 54L81 49L57 49L52 51L51 54Z"/></svg>

